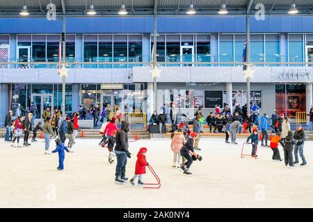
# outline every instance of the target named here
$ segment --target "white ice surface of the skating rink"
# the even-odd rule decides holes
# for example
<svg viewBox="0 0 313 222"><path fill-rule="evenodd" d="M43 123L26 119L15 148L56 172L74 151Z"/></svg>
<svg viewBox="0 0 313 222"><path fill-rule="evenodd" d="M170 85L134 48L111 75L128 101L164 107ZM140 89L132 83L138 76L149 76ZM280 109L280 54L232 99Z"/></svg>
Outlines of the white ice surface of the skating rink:
<svg viewBox="0 0 313 222"><path fill-rule="evenodd" d="M241 159L241 145L202 138L203 160L194 162L193 176L172 169L169 139L129 143L127 176L133 176L136 154L145 146L160 189L115 184L115 162L109 164L108 151L97 142L77 139L65 171L58 172L58 155L44 155L43 142L12 148L1 140L0 207L313 207L313 142L305 143L307 166L289 169L271 160L269 148L259 148L258 160ZM143 181L155 182L148 169Z"/></svg>

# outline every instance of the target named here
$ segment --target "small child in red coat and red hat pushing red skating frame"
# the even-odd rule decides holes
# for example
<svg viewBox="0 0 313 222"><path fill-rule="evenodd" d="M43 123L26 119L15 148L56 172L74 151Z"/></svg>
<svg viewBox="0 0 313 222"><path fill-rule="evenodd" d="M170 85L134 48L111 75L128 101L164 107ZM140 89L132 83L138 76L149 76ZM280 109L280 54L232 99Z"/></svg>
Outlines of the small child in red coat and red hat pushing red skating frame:
<svg viewBox="0 0 313 222"><path fill-rule="evenodd" d="M131 182L131 185L135 185L136 178L138 178L138 185L144 185L142 181L143 174L145 174L145 167L149 165L149 163L147 163L147 160L145 160L145 153L147 153L147 148L142 147L137 154L135 175L129 181Z"/></svg>

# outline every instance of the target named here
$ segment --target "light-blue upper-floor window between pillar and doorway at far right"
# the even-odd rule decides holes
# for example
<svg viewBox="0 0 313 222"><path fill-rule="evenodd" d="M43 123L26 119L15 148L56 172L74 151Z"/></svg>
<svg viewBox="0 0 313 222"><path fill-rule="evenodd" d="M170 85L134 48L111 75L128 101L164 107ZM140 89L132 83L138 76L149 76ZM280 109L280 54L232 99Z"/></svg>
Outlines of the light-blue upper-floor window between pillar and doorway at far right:
<svg viewBox="0 0 313 222"><path fill-rule="evenodd" d="M303 62L303 35L288 35L289 62ZM290 65L303 66L303 65Z"/></svg>

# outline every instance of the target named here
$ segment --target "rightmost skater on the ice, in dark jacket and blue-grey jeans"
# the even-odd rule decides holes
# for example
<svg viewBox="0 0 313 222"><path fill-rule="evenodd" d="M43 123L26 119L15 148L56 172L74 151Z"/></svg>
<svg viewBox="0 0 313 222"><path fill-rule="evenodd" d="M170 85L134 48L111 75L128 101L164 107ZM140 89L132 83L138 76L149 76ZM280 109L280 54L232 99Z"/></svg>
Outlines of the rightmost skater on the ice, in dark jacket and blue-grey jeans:
<svg viewBox="0 0 313 222"><path fill-rule="evenodd" d="M298 153L301 157L302 164L300 166L305 166L307 161L305 160L305 156L303 155L303 146L305 142L305 131L303 130L302 125L298 125L296 131L294 132L294 139L296 139L296 145L294 145L294 164L298 164L299 157Z"/></svg>

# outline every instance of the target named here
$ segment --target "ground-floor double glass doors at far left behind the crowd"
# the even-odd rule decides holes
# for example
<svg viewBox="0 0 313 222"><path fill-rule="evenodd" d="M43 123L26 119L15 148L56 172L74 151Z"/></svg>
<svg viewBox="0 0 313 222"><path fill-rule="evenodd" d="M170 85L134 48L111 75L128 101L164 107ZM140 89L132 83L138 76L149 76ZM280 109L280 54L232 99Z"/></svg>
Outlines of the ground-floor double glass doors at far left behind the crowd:
<svg viewBox="0 0 313 222"><path fill-rule="evenodd" d="M54 94L31 94L31 102L37 108L35 119L41 119L41 114L47 107L54 112Z"/></svg>

